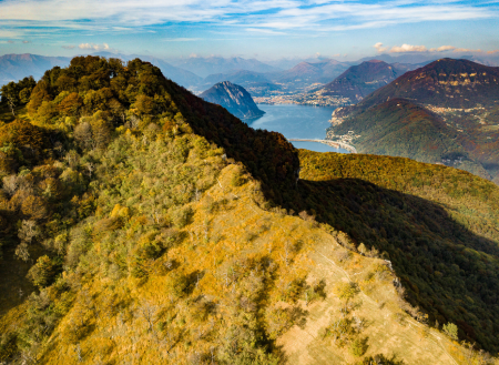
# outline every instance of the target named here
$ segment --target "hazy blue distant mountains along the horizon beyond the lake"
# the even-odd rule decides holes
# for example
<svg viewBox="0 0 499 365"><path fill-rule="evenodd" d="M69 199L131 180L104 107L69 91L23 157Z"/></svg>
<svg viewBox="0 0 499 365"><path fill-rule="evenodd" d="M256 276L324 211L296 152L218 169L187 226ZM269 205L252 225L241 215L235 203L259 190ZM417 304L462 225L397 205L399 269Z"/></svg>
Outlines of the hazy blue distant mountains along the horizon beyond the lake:
<svg viewBox="0 0 499 365"><path fill-rule="evenodd" d="M430 53L379 54L376 58L365 58L357 62L339 62L327 58L295 58L265 63L256 59L238 57L193 57L164 60L144 54L111 52L96 52L94 55L119 58L123 61L140 58L157 65L166 78L196 93L222 81L240 84L254 97L272 94L275 91L293 93L319 90L323 84L327 84L324 89L326 94L344 95L352 102L358 102L394 77L426 65L435 57ZM475 59L477 57L469 55ZM385 63L364 63L367 61ZM485 54L481 60L477 61L482 64L499 64L499 54ZM70 58L65 57L29 53L2 55L0 57L0 85L28 75L39 79L43 75L44 70L54 65L65 67L69 62ZM389 64L393 70L387 69L386 64ZM349 69L350 67L352 69ZM346 73L343 74L344 72ZM339 79L335 80L338 77Z"/></svg>

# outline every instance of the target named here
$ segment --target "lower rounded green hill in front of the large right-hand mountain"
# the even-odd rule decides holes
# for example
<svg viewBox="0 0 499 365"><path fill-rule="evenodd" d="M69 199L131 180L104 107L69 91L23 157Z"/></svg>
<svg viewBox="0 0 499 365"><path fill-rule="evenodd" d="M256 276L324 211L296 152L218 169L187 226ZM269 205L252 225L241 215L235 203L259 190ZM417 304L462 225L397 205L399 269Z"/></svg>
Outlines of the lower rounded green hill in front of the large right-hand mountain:
<svg viewBox="0 0 499 365"><path fill-rule="evenodd" d="M489 179L489 173L470 159L457 141L458 133L442 118L405 99L391 99L347 119L335 134L354 130L360 153L409 158L444 163Z"/></svg>

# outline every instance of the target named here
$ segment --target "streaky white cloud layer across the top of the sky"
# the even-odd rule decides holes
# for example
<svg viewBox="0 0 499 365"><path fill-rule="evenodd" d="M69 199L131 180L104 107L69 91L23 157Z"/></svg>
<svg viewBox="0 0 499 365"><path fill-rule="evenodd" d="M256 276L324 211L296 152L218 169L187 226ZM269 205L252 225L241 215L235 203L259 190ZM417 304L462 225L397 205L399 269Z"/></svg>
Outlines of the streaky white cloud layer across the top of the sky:
<svg viewBox="0 0 499 365"><path fill-rule="evenodd" d="M483 7L483 4L489 4ZM318 32L380 28L424 21L497 18L488 0L462 2L388 0L3 0L3 29L38 33L40 28L74 31L126 31L167 23L216 23L252 32L285 30Z"/></svg>

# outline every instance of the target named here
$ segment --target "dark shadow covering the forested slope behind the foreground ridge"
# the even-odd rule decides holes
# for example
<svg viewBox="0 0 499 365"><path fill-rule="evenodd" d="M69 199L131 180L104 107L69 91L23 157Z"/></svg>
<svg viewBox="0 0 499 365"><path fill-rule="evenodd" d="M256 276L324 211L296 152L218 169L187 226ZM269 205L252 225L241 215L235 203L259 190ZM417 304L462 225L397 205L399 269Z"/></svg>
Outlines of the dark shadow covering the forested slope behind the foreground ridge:
<svg viewBox="0 0 499 365"><path fill-rule="evenodd" d="M460 338L499 348L499 245L456 222L442 206L359 179L299 181L298 192L316 220L375 246L391 261L414 305ZM313 212L314 212L313 211ZM468 250L472 249L475 250Z"/></svg>

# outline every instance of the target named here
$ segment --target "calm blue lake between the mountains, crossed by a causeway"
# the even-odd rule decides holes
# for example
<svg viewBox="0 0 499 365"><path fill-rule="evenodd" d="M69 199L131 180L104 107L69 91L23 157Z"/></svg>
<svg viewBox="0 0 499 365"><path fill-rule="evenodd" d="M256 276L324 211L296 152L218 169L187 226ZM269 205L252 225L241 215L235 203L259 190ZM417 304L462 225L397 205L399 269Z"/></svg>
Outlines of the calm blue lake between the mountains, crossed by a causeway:
<svg viewBox="0 0 499 365"><path fill-rule="evenodd" d="M258 104L265 114L258 119L245 121L254 129L262 129L282 133L287 139L318 139L326 138L326 129L330 126L330 114L336 108L308 107L295 104ZM342 152L327 144L317 142L292 142L297 149L317 152Z"/></svg>

